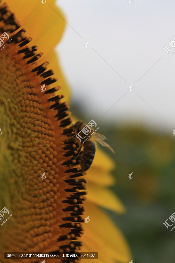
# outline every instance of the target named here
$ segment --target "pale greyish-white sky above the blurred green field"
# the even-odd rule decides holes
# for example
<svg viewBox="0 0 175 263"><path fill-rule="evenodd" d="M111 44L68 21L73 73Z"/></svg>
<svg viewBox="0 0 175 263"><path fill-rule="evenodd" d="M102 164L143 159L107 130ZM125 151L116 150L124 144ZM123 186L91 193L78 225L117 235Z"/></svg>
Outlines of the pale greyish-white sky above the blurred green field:
<svg viewBox="0 0 175 263"><path fill-rule="evenodd" d="M175 1L59 0L57 5L67 21L57 51L72 102L96 122L136 121L171 134L175 53L169 56L163 47L175 37Z"/></svg>

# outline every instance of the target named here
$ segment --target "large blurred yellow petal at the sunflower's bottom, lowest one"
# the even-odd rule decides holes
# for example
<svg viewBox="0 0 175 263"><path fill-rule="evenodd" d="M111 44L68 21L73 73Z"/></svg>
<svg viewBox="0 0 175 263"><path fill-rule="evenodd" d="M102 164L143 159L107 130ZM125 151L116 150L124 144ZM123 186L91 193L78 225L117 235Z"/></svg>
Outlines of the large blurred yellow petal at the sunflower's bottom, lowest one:
<svg viewBox="0 0 175 263"><path fill-rule="evenodd" d="M96 209L95 205L87 201L85 217L89 215L90 221L84 224L83 252L98 252L98 259L93 259L93 262L113 263L115 260L129 263L131 253L124 236L100 209L92 214ZM91 263L92 260L82 259L82 262Z"/></svg>

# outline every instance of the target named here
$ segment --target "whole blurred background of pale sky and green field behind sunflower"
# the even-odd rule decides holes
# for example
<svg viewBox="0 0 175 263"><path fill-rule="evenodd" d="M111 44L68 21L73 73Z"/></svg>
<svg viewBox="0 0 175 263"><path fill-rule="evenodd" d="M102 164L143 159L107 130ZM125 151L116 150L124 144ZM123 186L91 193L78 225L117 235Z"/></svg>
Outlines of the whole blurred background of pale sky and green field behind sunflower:
<svg viewBox="0 0 175 263"><path fill-rule="evenodd" d="M175 209L175 45L167 46L168 54L163 48L175 37L175 2L57 5L67 21L56 50L72 92L72 115L95 120L115 151L103 147L116 163L112 190L127 212L105 212L125 234L133 263L173 263L175 230L163 223Z"/></svg>

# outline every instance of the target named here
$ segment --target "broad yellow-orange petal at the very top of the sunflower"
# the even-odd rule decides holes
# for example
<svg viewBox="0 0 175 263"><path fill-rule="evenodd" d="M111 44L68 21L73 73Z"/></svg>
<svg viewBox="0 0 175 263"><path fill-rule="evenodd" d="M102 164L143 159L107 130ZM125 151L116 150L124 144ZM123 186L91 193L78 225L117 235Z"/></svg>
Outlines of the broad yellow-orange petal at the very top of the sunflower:
<svg viewBox="0 0 175 263"><path fill-rule="evenodd" d="M5 2L5 1L4 1ZM8 0L8 5L15 13L27 35L34 39L34 43L44 52L44 57L50 53L60 41L64 28L65 18L55 5L55 0L40 1Z"/></svg>

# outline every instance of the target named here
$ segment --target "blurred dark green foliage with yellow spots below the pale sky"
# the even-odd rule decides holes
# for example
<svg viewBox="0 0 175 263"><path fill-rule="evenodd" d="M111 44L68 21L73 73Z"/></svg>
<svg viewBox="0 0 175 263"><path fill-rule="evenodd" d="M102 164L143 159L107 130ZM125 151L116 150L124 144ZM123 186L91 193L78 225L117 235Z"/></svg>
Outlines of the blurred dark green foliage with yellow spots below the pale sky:
<svg viewBox="0 0 175 263"><path fill-rule="evenodd" d="M175 212L175 138L138 125L101 132L115 151L113 191L127 210L122 216L106 212L125 234L133 262L174 263L175 230L163 223Z"/></svg>

